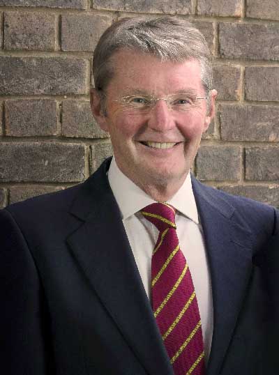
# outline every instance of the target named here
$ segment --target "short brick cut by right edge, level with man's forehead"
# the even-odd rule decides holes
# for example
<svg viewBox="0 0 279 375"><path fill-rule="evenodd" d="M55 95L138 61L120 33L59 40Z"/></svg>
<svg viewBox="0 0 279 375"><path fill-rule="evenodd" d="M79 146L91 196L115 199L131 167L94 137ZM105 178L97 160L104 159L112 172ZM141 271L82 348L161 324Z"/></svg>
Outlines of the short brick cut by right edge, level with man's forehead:
<svg viewBox="0 0 279 375"><path fill-rule="evenodd" d="M247 67L244 83L246 100L279 101L279 67Z"/></svg>

